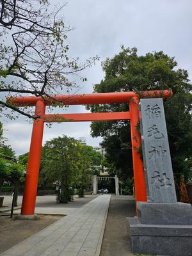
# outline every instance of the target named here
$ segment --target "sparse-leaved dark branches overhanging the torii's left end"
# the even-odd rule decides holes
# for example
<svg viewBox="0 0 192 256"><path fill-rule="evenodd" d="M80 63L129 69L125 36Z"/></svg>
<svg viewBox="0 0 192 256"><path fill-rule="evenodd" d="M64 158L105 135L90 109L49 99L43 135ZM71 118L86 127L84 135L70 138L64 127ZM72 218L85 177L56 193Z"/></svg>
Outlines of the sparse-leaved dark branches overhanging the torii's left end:
<svg viewBox="0 0 192 256"><path fill-rule="evenodd" d="M5 112L12 109L35 118L31 109L19 109L7 97L28 94L49 100L52 94L69 92L77 85L68 76L90 67L98 57L81 63L68 56L67 33L72 29L60 17L65 4L55 8L47 0L0 4L0 115L12 118Z"/></svg>

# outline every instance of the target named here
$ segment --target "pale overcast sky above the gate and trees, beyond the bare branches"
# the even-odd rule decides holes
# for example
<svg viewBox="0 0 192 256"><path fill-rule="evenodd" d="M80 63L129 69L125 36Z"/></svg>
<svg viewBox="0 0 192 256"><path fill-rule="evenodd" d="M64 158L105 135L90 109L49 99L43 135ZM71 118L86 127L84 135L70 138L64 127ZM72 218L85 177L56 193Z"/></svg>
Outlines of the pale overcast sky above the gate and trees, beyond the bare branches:
<svg viewBox="0 0 192 256"><path fill-rule="evenodd" d="M61 5L64 1L51 0ZM60 15L67 26L70 55L81 61L98 55L100 61L83 71L88 81L79 83L77 93L92 93L93 84L104 79L101 62L113 58L120 46L137 47L138 54L163 51L175 56L178 68L189 72L192 80L192 1L191 0L68 0ZM76 81L76 77L72 77ZM66 113L84 113L83 106L67 108ZM32 123L19 117L4 120L4 136L17 156L29 151ZM44 141L66 134L98 146L102 138L92 138L90 122L53 124L45 126Z"/></svg>

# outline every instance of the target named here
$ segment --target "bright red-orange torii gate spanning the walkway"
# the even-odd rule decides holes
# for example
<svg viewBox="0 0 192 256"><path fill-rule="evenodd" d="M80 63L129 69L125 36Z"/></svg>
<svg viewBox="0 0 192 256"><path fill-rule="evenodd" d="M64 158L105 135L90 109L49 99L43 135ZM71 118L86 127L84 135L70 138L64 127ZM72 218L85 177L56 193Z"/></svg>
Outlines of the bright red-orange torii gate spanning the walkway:
<svg viewBox="0 0 192 256"><path fill-rule="evenodd" d="M166 99L168 96L172 96L172 91L145 91L142 92L142 95L143 97L163 97ZM139 122L139 99L140 95L134 92L92 93L83 95L52 95L52 97L47 100L43 99L42 97L10 98L10 102L16 106L35 106L35 115L38 116L38 118L33 122L28 168L26 173L26 183L20 214L33 215L35 213L36 191L38 186L38 173L40 168L44 122L85 122L130 119L136 202L147 201L143 161L141 160L140 153L138 152L138 148L140 148L141 145L141 136L136 128ZM129 112L58 115L45 114L45 106L50 106L52 104L56 104L57 102L65 105L129 103Z"/></svg>

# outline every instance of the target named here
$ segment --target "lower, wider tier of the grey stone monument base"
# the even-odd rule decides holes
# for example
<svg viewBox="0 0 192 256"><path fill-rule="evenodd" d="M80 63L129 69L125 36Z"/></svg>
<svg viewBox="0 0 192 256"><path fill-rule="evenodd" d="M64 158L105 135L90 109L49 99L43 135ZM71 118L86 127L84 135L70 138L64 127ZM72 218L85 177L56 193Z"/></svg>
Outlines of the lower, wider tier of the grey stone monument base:
<svg viewBox="0 0 192 256"><path fill-rule="evenodd" d="M127 220L133 253L192 255L192 225L141 224L137 217Z"/></svg>

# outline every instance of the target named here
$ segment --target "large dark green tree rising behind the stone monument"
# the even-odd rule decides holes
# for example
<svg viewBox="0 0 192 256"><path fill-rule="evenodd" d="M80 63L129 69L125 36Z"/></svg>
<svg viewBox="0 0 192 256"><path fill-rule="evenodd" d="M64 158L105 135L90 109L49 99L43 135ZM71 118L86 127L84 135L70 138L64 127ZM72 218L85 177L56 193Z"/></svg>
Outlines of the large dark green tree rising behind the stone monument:
<svg viewBox="0 0 192 256"><path fill-rule="evenodd" d="M174 58L162 51L138 56L137 49L122 47L114 58L102 63L104 79L95 84L94 92L140 93L143 90L172 89L173 97L164 102L166 124L172 155L173 172L189 175L192 153L191 83L187 70L177 69ZM128 104L88 106L92 112L128 111ZM92 136L102 136L106 158L118 175L132 176L131 134L128 121L93 122ZM187 169L186 169L187 168Z"/></svg>

